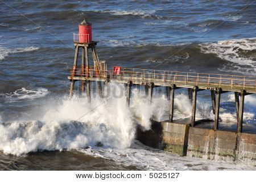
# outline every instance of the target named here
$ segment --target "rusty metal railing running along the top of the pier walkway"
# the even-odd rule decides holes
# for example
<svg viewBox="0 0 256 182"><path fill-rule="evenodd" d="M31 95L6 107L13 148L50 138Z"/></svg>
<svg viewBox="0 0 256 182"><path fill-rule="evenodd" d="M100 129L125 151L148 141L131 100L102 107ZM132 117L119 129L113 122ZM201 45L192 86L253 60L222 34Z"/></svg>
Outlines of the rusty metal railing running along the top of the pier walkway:
<svg viewBox="0 0 256 182"><path fill-rule="evenodd" d="M189 73L180 71L147 70L122 68L120 74L114 74L113 70L95 70L93 67L85 69L71 69L71 75L88 78L109 78L122 81L141 81L155 83L184 84L188 86L229 87L242 90L256 91L256 77Z"/></svg>

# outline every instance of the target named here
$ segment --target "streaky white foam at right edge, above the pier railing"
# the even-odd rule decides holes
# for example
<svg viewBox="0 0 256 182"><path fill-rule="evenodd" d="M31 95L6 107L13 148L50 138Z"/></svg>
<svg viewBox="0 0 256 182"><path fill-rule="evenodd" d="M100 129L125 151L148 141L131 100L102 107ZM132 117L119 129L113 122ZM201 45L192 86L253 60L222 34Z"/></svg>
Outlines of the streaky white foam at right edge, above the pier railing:
<svg viewBox="0 0 256 182"><path fill-rule="evenodd" d="M218 41L200 44L201 52L216 54L223 60L238 65L250 66L256 71L255 54L247 54L256 49L256 38Z"/></svg>

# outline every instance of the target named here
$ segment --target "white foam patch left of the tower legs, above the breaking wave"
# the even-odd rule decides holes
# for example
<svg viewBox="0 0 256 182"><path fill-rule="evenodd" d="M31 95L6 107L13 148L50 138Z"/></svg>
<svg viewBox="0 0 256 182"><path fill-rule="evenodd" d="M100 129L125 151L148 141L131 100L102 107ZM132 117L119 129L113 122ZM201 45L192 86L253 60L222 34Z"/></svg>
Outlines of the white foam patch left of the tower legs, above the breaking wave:
<svg viewBox="0 0 256 182"><path fill-rule="evenodd" d="M42 98L47 94L49 94L49 91L46 88L28 89L22 87L14 92L1 94L1 96L3 96L7 102L12 103L21 99Z"/></svg>

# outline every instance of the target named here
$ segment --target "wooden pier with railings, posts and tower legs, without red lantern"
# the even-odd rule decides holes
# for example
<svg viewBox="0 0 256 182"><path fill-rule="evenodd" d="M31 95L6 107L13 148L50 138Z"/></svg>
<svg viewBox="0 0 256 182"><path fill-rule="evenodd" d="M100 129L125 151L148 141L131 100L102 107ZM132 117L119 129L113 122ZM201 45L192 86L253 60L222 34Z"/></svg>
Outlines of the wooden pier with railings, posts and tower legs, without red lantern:
<svg viewBox="0 0 256 182"><path fill-rule="evenodd" d="M107 70L106 62L98 61L96 54L96 43L75 44L76 54L74 65L71 68L71 75L68 79L71 81L70 95L73 94L73 87L76 81L81 81L82 92L85 91L90 100L90 82L98 82L99 95L102 97L102 84L108 86L108 82L124 83L126 89L127 105L130 105L130 92L132 86L140 85L145 87L148 100L152 103L152 92L155 87L166 87L167 100L169 102L169 121L174 117L175 90L179 88L188 88L189 98L192 101L191 126L196 124L196 99L197 92L209 90L209 96L212 99L212 108L214 117L214 129L218 129L221 94L225 92L234 92L235 105L237 109L237 132L242 132L243 108L245 96L256 93L256 78L238 75L207 74L207 73L189 73L180 71L166 70L148 70L135 68L114 67ZM77 58L79 48L82 48L82 68L77 67ZM94 66L88 66L88 49L92 49ZM83 58L84 57L84 58ZM85 63L85 64L83 64Z"/></svg>

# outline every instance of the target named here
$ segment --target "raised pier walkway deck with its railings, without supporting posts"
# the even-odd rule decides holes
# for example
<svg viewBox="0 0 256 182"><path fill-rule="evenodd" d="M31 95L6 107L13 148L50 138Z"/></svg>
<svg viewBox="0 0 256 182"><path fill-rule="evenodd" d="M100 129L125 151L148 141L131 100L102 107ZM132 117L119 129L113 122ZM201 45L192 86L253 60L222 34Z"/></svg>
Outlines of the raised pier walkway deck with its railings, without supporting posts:
<svg viewBox="0 0 256 182"><path fill-rule="evenodd" d="M113 70L71 69L69 80L118 82L179 88L197 87L199 90L222 90L230 92L256 93L256 77L188 73L179 71L123 68L120 74Z"/></svg>

